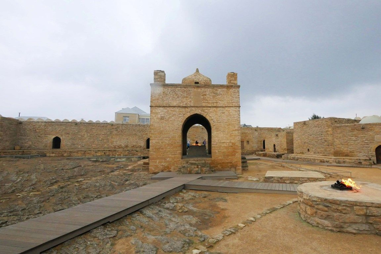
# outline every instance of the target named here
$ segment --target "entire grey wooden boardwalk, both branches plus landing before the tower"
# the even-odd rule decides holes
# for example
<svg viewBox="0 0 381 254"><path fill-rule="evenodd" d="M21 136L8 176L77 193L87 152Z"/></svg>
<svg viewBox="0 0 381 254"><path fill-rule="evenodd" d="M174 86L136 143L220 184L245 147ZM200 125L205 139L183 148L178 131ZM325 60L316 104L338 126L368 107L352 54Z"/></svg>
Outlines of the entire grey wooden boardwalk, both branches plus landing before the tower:
<svg viewBox="0 0 381 254"><path fill-rule="evenodd" d="M39 254L104 223L112 222L183 188L220 192L296 194L297 185L217 181L236 179L233 172L178 175L162 172L163 180L130 191L0 228L0 254ZM209 180L202 180L209 179Z"/></svg>

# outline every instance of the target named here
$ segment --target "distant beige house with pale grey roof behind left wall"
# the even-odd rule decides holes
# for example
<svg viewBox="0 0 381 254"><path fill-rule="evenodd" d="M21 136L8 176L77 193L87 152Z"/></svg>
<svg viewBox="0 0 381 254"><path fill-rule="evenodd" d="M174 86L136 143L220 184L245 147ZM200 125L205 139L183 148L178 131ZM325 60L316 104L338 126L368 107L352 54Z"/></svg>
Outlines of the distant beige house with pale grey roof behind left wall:
<svg viewBox="0 0 381 254"><path fill-rule="evenodd" d="M115 123L117 124L142 124L149 125L150 115L138 107L124 108L115 112Z"/></svg>

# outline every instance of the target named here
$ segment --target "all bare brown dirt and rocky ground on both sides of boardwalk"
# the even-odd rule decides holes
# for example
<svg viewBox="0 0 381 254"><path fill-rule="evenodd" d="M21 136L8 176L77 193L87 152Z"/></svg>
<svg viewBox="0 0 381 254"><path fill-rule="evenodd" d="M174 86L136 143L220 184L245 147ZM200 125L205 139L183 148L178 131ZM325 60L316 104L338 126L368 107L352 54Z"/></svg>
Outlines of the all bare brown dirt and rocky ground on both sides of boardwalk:
<svg viewBox="0 0 381 254"><path fill-rule="evenodd" d="M90 162L65 158L0 158L0 226L41 216L82 202L149 183L142 162ZM352 172L355 181L381 184L381 169L285 165L250 161L240 179L261 181L268 170L298 167ZM347 176L347 173L342 173ZM331 177L338 180L341 177ZM250 223L250 217L296 198L288 194L182 191L117 221L102 225L52 248L47 254L192 253L381 253L381 237L335 233L304 222L297 203ZM237 225L244 223L243 229ZM236 232L215 244L208 240L227 229Z"/></svg>

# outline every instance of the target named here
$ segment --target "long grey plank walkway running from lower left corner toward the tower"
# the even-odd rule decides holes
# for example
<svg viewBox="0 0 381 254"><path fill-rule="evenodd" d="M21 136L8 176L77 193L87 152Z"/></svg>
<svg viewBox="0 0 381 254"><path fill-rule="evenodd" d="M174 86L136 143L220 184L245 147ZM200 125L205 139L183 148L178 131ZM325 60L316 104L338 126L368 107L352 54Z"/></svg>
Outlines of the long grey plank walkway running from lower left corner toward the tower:
<svg viewBox="0 0 381 254"><path fill-rule="evenodd" d="M178 176L0 228L0 254L39 254L172 195L199 175Z"/></svg>

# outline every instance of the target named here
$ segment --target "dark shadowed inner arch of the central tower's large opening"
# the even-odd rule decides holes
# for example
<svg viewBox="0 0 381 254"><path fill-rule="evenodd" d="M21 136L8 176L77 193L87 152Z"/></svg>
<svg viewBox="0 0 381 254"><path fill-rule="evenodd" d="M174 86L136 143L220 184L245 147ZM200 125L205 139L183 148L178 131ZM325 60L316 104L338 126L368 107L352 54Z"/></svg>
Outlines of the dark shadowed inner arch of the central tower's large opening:
<svg viewBox="0 0 381 254"><path fill-rule="evenodd" d="M208 154L212 154L212 127L209 123L209 121L202 115L200 114L193 114L190 117L188 117L183 124L182 128L182 147L183 147L183 156L187 155L187 133L188 130L193 126L193 125L202 125L205 129L206 132L208 133Z"/></svg>

